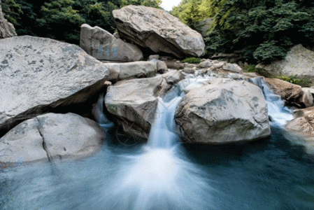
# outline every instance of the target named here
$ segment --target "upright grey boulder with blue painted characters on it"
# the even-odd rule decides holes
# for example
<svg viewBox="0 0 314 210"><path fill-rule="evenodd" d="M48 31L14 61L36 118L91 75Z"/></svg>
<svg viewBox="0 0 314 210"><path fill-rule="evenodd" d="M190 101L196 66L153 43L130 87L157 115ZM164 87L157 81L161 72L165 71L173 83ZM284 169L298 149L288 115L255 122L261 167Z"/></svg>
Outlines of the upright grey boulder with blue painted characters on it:
<svg viewBox="0 0 314 210"><path fill-rule="evenodd" d="M100 60L134 62L143 59L143 53L136 45L125 43L104 29L87 24L80 29L80 47Z"/></svg>

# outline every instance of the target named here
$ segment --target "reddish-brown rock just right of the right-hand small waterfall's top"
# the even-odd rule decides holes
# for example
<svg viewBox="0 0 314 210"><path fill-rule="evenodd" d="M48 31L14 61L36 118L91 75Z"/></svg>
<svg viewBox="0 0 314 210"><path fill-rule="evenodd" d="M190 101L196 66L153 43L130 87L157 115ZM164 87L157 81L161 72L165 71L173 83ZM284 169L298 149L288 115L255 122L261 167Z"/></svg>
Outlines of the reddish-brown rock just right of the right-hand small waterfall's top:
<svg viewBox="0 0 314 210"><path fill-rule="evenodd" d="M265 78L273 92L279 94L286 101L299 108L313 106L313 96L310 91L302 90L301 86L288 83L278 78Z"/></svg>

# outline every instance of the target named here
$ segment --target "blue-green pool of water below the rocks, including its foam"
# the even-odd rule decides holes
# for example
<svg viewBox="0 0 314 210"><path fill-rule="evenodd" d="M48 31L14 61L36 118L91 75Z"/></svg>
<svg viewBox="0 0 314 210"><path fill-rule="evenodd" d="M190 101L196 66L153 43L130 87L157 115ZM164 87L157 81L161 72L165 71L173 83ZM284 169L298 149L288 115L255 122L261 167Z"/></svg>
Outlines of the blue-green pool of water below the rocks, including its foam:
<svg viewBox="0 0 314 210"><path fill-rule="evenodd" d="M0 169L0 209L314 209L314 158L280 127L247 144L117 144Z"/></svg>

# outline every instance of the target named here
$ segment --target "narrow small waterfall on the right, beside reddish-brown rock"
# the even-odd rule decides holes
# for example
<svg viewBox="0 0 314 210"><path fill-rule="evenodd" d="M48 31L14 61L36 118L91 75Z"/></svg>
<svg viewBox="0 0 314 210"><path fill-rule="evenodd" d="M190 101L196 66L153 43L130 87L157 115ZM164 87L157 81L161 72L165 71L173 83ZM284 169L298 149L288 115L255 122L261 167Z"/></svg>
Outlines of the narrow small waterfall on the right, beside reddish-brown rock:
<svg viewBox="0 0 314 210"><path fill-rule="evenodd" d="M259 86L266 99L268 106L269 116L273 119L271 124L278 125L283 127L287 121L292 120L292 111L284 106L281 97L278 94L274 94L273 91L269 88L269 85L266 84L263 78L251 78L250 81L255 85Z"/></svg>

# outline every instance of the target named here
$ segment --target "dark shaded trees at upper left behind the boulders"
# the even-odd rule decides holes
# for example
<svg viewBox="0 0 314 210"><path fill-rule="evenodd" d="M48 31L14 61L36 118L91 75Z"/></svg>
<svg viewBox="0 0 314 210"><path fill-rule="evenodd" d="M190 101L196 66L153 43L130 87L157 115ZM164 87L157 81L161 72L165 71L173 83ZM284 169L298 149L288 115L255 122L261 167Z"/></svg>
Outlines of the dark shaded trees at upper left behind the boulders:
<svg viewBox="0 0 314 210"><path fill-rule="evenodd" d="M83 23L113 33L113 10L129 4L159 8L161 3L161 0L2 0L1 5L18 35L78 43Z"/></svg>

